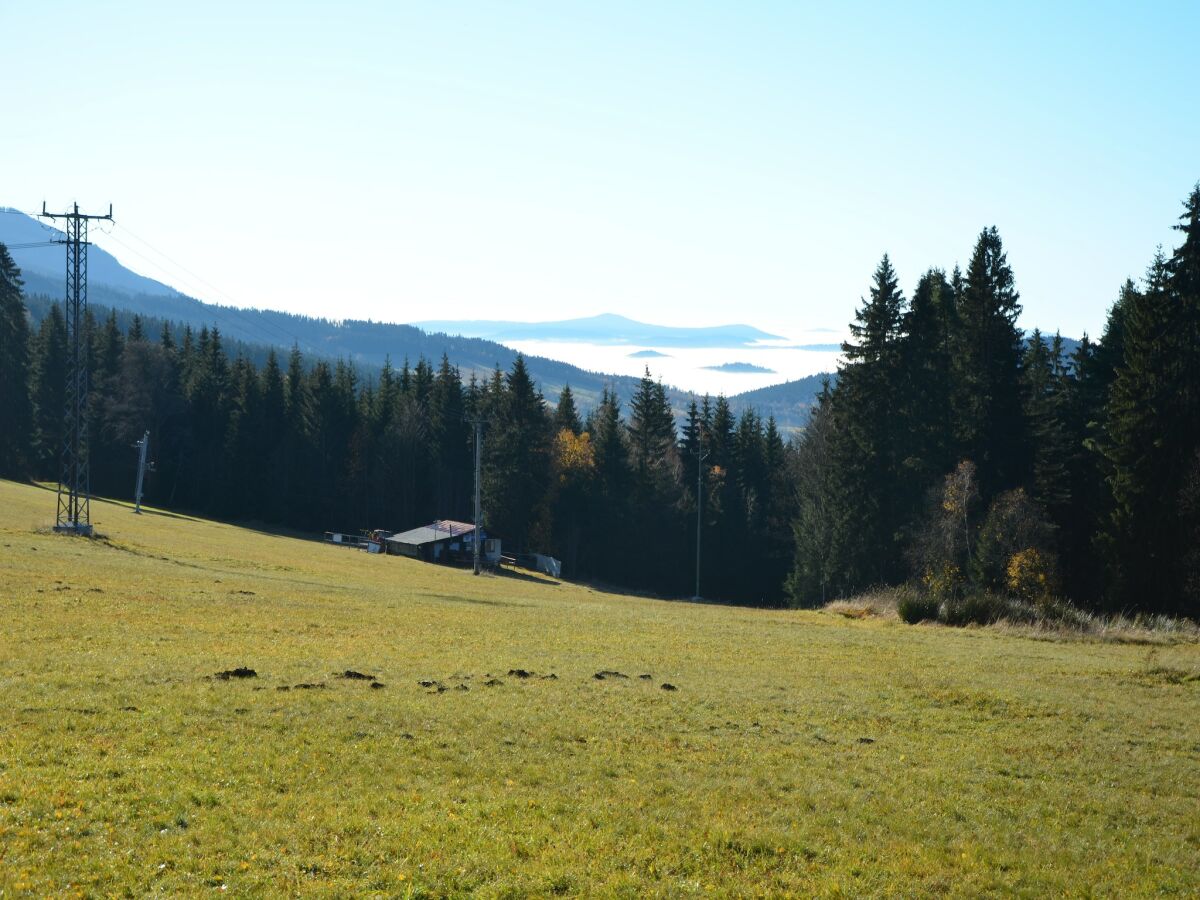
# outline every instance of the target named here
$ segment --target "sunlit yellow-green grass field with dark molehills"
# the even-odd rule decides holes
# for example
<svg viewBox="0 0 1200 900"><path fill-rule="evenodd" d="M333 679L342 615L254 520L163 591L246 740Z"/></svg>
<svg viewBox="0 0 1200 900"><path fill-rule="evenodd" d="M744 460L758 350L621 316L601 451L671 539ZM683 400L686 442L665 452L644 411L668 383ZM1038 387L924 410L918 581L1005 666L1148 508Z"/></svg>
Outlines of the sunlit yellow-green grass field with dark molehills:
<svg viewBox="0 0 1200 900"><path fill-rule="evenodd" d="M1200 893L1195 643L53 511L0 481L5 898Z"/></svg>

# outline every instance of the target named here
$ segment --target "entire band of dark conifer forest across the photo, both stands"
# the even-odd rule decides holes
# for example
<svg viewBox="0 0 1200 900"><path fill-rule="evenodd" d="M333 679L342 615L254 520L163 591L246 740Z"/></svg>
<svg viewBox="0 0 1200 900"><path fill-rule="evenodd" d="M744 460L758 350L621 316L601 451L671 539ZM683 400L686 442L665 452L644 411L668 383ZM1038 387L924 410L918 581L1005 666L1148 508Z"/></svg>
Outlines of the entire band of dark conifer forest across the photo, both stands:
<svg viewBox="0 0 1200 900"><path fill-rule="evenodd" d="M698 532L714 600L906 586L912 619L986 617L989 598L1194 618L1200 186L1177 229L1078 342L1022 328L995 228L911 292L883 256L796 436L722 397L673 409L649 374L584 413L570 390L550 407L520 358L486 379L446 358L366 378L114 312L88 322L91 488L128 497L149 431L156 506L302 532L469 518L480 418L486 527L570 580L690 596ZM0 475L55 481L66 328L58 305L35 326L22 284L0 245Z"/></svg>

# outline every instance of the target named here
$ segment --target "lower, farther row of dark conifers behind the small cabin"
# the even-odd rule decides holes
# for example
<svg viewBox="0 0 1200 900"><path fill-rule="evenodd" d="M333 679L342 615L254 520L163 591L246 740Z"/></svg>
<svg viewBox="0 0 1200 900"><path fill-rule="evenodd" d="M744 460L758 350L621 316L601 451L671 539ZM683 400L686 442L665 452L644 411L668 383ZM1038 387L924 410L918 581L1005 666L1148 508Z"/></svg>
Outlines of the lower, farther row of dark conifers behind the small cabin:
<svg viewBox="0 0 1200 900"><path fill-rule="evenodd" d="M30 331L20 275L0 245L0 474L59 478L67 342L54 305ZM122 324L125 325L122 328ZM484 422L485 523L508 552L551 553L571 577L680 595L695 589L697 478L702 592L780 604L794 509L774 421L706 398L676 427L648 376L622 408L550 407L517 358L466 383L443 356L364 379L293 349L230 358L220 331L88 319L96 494L132 493L133 444L150 432L146 503L302 530L407 529L469 521L473 425Z"/></svg>

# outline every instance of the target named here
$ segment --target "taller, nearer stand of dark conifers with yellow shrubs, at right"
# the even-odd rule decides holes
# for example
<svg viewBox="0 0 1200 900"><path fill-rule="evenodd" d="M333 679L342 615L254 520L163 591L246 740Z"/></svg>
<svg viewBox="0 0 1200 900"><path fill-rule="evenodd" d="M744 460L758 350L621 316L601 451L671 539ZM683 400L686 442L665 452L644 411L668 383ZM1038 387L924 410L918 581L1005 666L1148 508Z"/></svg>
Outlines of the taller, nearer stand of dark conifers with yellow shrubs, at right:
<svg viewBox="0 0 1200 900"><path fill-rule="evenodd" d="M1070 355L1018 328L995 228L911 298L884 256L797 448L793 601L910 583L943 619L988 596L1200 614L1200 187L1177 228Z"/></svg>

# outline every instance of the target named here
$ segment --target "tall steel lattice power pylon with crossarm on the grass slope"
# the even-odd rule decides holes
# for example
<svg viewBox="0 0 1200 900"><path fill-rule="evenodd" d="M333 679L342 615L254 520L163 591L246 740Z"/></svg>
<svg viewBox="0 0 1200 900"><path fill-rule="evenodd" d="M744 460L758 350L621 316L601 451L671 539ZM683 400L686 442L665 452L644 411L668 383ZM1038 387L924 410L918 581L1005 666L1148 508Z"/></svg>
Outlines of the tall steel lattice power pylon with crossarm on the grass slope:
<svg viewBox="0 0 1200 900"><path fill-rule="evenodd" d="M91 470L88 464L88 348L84 326L88 318L88 222L113 221L113 206L107 216L91 216L74 204L71 212L47 212L42 203L42 218L66 220L66 233L54 244L67 248L67 403L66 436L62 442L62 467L59 475L59 508L54 530L64 534L90 536Z"/></svg>

